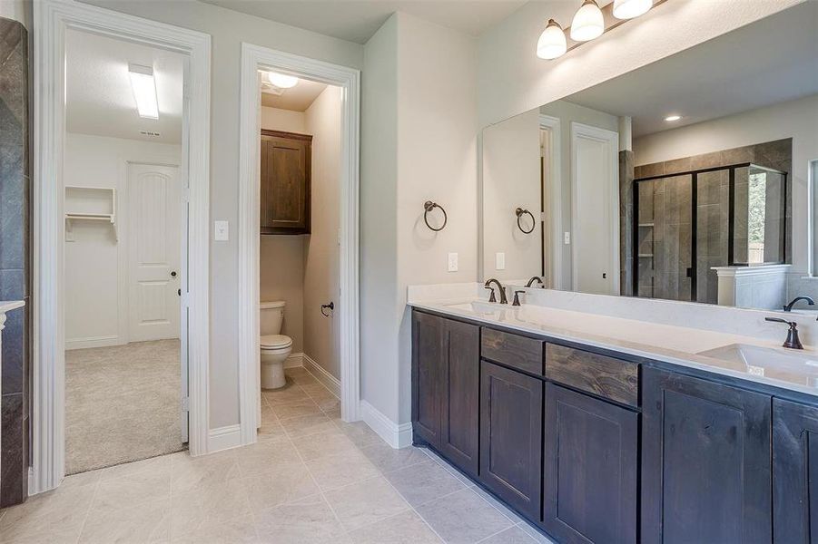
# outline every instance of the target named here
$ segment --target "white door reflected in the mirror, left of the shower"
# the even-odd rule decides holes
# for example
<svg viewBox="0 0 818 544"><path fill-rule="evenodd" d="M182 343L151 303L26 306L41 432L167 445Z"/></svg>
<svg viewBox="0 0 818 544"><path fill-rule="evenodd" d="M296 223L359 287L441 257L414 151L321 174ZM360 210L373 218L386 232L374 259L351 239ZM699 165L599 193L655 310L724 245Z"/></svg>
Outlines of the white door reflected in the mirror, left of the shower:
<svg viewBox="0 0 818 544"><path fill-rule="evenodd" d="M571 123L574 290L619 294L619 135Z"/></svg>

